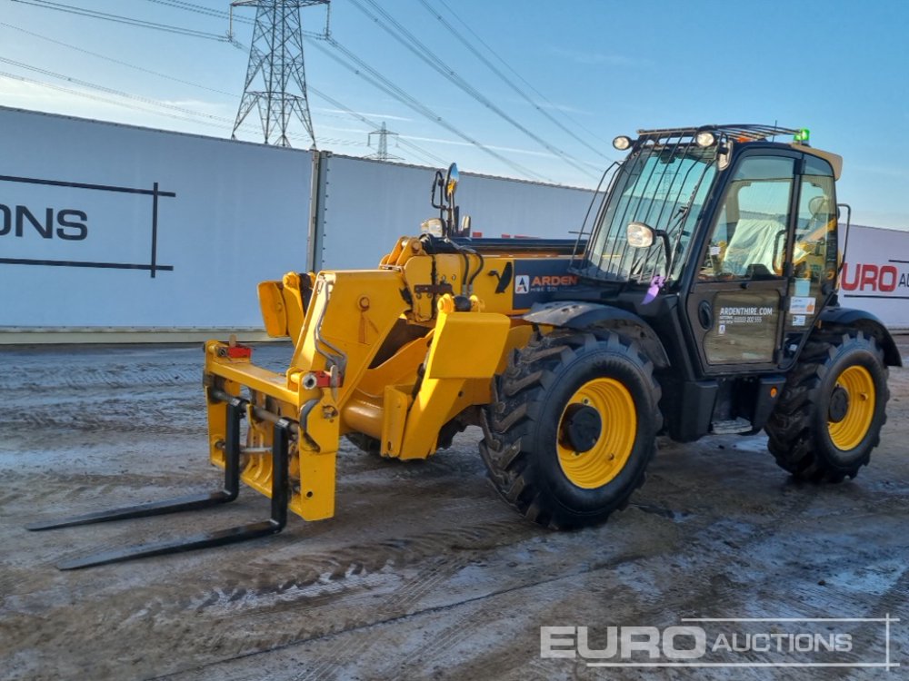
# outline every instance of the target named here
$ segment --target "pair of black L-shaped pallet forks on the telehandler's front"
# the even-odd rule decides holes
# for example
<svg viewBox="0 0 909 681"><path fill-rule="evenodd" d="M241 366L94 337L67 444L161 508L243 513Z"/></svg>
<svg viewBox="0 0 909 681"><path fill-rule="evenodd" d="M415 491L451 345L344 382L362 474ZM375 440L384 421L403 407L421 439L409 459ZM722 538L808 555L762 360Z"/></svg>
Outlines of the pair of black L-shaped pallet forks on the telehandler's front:
<svg viewBox="0 0 909 681"><path fill-rule="evenodd" d="M60 521L37 523L26 528L44 530L67 528L75 525L122 520L126 518L145 518L165 513L176 513L196 508L207 508L233 501L240 489L240 419L244 416L246 400L231 398L227 400L227 432L225 433L225 489L208 494L191 495L155 501L138 506L113 508L97 513L88 513ZM57 564L62 570L91 568L107 563L120 563L135 558L162 556L170 553L182 553L196 548L218 547L234 544L247 539L276 534L287 524L287 503L290 494L288 482L288 448L290 439L290 421L275 419L274 438L272 441L272 508L268 520L238 525L233 528L204 532L185 538L171 539L151 544L99 551L83 558L64 560Z"/></svg>

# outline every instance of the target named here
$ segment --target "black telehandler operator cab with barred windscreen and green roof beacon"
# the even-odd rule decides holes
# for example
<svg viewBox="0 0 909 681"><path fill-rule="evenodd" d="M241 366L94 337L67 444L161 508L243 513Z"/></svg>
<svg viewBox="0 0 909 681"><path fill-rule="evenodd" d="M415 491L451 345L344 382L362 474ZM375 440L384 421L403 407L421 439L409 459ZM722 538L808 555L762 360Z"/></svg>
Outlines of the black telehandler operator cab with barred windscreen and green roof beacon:
<svg viewBox="0 0 909 681"><path fill-rule="evenodd" d="M763 125L641 131L614 146L629 154L576 273L648 321L670 312L692 378L791 365L835 295L840 157L811 148L806 130Z"/></svg>

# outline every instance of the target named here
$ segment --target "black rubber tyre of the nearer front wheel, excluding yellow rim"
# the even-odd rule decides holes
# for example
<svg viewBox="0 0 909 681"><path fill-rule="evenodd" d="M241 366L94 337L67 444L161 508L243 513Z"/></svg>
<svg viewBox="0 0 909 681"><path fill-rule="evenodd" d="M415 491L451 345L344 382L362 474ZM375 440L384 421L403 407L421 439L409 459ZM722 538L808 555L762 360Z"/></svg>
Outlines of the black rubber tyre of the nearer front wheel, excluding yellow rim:
<svg viewBox="0 0 909 681"><path fill-rule="evenodd" d="M635 441L631 459L637 458L636 471L619 489L619 497L604 508L578 511L566 508L550 489L541 460L557 458L555 443L543 445L535 441L534 430L546 417L545 400L558 387L560 376L577 362L604 356L620 358L634 367L642 386L635 400L649 401L650 414L638 414L638 422L643 424L639 433L643 429L644 438ZM494 488L524 518L544 527L570 529L603 523L614 510L625 508L634 490L644 484L644 471L656 448L655 435L663 425L660 397L654 364L636 341L606 330L557 330L545 336L534 333L524 348L513 350L506 369L493 380L489 408L482 411L484 439L480 442L480 455ZM559 414L563 408L564 405L549 406L549 410L555 409ZM548 447L549 451L540 451L541 447ZM558 474L564 475L561 469Z"/></svg>

